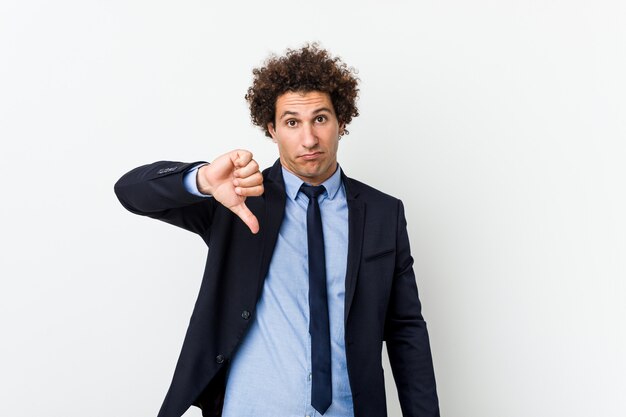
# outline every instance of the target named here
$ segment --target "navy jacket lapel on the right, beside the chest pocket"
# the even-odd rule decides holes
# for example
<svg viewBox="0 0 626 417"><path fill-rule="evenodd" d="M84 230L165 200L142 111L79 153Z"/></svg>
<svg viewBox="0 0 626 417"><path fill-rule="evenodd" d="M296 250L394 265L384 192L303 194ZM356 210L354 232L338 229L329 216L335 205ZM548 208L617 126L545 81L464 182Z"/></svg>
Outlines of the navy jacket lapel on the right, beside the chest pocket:
<svg viewBox="0 0 626 417"><path fill-rule="evenodd" d="M361 250L363 248L363 230L365 227L365 204L358 198L358 184L341 174L346 188L348 203L348 263L346 268L346 297L344 306L344 325L348 322L350 306L354 298L356 281L361 265Z"/></svg>

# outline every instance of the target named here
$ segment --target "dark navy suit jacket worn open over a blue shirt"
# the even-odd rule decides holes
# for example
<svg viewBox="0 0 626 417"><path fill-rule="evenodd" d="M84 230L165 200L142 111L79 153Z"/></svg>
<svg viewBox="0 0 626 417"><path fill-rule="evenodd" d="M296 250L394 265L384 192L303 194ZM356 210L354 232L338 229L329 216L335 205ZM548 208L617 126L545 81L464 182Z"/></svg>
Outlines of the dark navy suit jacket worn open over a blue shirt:
<svg viewBox="0 0 626 417"><path fill-rule="evenodd" d="M191 405L201 407L203 416L221 415L225 371L254 316L284 215L279 161L263 172L264 194L246 199L259 219L256 235L216 200L186 191L183 175L197 163L156 162L128 172L115 184L129 211L197 233L210 248L158 417L180 417ZM342 180L349 212L345 341L355 417L387 415L383 341L402 414L439 416L402 202L345 175Z"/></svg>

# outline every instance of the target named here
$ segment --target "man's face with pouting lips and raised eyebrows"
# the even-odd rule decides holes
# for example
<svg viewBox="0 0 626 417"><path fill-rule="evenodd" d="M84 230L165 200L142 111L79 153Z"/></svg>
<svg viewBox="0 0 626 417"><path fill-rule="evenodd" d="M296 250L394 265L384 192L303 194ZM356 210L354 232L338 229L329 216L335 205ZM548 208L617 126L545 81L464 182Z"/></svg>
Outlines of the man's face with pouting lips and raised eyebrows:
<svg viewBox="0 0 626 417"><path fill-rule="evenodd" d="M333 175L343 126L328 93L284 93L276 100L276 126L268 129L288 171L312 185Z"/></svg>

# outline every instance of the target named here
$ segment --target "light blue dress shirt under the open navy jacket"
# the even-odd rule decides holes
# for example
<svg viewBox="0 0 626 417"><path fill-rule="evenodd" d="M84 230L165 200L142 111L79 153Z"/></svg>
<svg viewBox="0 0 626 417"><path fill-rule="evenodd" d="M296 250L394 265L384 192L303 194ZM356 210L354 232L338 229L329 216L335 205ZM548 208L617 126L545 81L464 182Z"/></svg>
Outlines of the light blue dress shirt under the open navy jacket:
<svg viewBox="0 0 626 417"><path fill-rule="evenodd" d="M196 186L195 167L185 176ZM285 217L264 282L256 314L232 358L226 384L224 417L306 417L320 414L311 406L311 337L309 271L303 181L283 168ZM328 311L330 319L332 404L324 417L354 415L344 339L344 295L348 258L348 205L341 170L322 185L322 214Z"/></svg>

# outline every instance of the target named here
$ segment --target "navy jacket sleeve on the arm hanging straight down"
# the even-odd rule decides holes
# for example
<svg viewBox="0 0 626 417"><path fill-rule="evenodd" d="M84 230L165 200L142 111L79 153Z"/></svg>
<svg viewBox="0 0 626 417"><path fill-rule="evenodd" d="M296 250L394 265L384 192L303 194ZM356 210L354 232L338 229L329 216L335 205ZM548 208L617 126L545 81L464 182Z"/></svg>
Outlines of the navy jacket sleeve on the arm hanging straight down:
<svg viewBox="0 0 626 417"><path fill-rule="evenodd" d="M402 202L398 204L396 264L385 322L389 362L404 417L438 417L430 342L421 313Z"/></svg>

